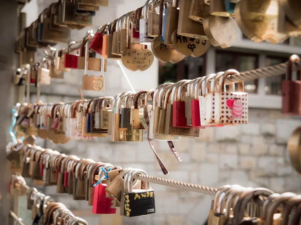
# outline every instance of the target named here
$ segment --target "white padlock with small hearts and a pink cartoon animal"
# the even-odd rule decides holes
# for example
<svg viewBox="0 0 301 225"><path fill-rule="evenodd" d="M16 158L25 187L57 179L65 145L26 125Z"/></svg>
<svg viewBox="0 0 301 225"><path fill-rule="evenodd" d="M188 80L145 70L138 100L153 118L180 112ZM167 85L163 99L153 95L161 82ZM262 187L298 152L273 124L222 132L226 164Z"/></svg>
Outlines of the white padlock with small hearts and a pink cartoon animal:
<svg viewBox="0 0 301 225"><path fill-rule="evenodd" d="M223 92L224 81L228 76L239 76L240 73L230 69L219 79L219 92L214 93L214 123L216 124L246 124L248 122L248 93L244 92L244 83L238 83L235 92L234 85L229 86L229 92Z"/></svg>

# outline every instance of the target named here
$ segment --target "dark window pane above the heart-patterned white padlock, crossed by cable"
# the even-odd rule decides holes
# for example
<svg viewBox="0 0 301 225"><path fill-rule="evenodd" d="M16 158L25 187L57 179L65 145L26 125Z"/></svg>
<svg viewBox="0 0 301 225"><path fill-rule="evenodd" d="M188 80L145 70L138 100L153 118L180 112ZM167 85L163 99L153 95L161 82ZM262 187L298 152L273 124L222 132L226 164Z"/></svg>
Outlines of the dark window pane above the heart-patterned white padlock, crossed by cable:
<svg viewBox="0 0 301 225"><path fill-rule="evenodd" d="M239 72L258 68L258 55L236 52L217 51L215 59L215 71L235 69ZM245 91L257 93L258 80L245 82ZM227 88L228 89L228 88Z"/></svg>

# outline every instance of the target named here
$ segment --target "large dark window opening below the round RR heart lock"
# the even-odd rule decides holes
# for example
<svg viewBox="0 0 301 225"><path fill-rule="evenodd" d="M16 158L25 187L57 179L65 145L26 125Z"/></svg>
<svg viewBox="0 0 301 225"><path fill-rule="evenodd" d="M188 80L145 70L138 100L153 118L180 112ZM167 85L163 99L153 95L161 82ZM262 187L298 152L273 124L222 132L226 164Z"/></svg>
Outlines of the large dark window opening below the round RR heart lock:
<svg viewBox="0 0 301 225"><path fill-rule="evenodd" d="M159 62L159 84L205 76L205 58L205 55L197 58L190 56L175 64Z"/></svg>

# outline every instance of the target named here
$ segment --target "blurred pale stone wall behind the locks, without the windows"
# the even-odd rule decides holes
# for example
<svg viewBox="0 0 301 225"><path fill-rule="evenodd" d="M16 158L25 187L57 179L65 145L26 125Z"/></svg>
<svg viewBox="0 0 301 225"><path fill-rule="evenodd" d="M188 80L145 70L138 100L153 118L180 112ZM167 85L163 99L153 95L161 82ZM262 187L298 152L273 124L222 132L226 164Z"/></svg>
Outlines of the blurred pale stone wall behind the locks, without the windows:
<svg viewBox="0 0 301 225"><path fill-rule="evenodd" d="M51 1L38 1L41 12ZM143 1L144 2L144 1ZM102 8L93 19L92 27L113 21L124 13L142 6L141 1L111 0L109 8ZM30 8L29 8L30 12ZM29 13L30 15L30 13ZM32 21L28 21L30 24ZM73 40L80 40L87 29L73 31ZM59 46L57 47L59 48ZM38 54L38 58L41 55ZM158 83L158 61L144 73L126 70L136 90L155 88ZM93 73L91 73L93 74ZM97 74L97 73L96 73ZM43 102L68 102L79 99L77 87L81 85L82 71L66 73L63 80L53 80L50 86L43 86ZM115 96L129 90L124 76L115 61L108 61L106 92L83 92L85 98ZM33 95L31 102L35 102ZM240 184L246 187L268 187L275 192L300 191L300 179L292 169L286 142L293 129L301 125L298 118L288 118L276 110L249 110L247 125L206 128L200 138L181 138L175 142L181 154L178 163L166 142L155 141L154 145L163 163L169 170L164 176L152 153L144 133L143 143L113 143L109 138L93 141L69 141L56 145L38 140L37 144L61 153L74 154L81 158L110 162L123 168L144 169L149 175L211 187L224 184ZM126 218L119 215L95 215L86 201L73 201L67 194L57 194L54 187L44 191L57 201L63 202L75 215L86 219L89 224L202 224L207 216L212 197L187 192L172 187L152 184L156 195L156 214L145 217ZM122 221L123 220L123 221Z"/></svg>

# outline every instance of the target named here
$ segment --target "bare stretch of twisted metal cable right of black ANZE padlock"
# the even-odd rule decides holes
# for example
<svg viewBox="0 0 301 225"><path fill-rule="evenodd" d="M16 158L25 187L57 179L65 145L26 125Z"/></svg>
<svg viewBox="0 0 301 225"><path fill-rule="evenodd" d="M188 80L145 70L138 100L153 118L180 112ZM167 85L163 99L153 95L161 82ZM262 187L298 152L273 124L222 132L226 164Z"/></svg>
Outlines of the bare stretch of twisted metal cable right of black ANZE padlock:
<svg viewBox="0 0 301 225"><path fill-rule="evenodd" d="M215 195L215 192L217 191L217 188L214 187L207 187L207 186L201 186L197 184L168 180L165 178L146 176L144 174L137 174L135 176L135 179L150 182L150 183L156 183L168 187L175 187L183 190L198 192L207 195Z"/></svg>

